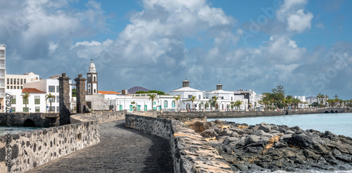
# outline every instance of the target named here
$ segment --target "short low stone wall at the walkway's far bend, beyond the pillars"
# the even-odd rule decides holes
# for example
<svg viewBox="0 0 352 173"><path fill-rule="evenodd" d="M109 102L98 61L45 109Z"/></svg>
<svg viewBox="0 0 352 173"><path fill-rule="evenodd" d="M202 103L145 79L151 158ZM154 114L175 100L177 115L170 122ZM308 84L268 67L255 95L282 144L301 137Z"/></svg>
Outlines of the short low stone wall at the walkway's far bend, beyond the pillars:
<svg viewBox="0 0 352 173"><path fill-rule="evenodd" d="M77 123L76 119L78 119L80 121L98 120L99 123L111 122L111 121L125 119L126 113L127 113L127 110L120 110L120 111L115 111L115 112L103 111L103 112L94 112L94 113L81 113L81 114L71 115L70 122L71 122L71 124Z"/></svg>

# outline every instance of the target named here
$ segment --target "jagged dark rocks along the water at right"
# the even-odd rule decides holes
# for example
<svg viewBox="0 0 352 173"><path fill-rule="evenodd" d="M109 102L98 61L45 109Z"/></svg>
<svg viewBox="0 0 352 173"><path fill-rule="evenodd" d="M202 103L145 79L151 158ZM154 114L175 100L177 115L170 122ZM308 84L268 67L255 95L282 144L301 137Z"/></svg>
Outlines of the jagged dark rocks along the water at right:
<svg viewBox="0 0 352 173"><path fill-rule="evenodd" d="M313 129L207 122L201 136L234 171L352 170L352 138ZM348 130L348 129L346 129Z"/></svg>

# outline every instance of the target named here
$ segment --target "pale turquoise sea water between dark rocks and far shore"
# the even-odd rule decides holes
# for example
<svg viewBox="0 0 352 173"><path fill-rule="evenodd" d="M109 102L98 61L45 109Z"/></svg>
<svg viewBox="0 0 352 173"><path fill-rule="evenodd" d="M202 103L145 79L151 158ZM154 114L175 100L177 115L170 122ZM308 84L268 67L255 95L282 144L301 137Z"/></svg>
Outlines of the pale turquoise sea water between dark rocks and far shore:
<svg viewBox="0 0 352 173"><path fill-rule="evenodd" d="M208 119L208 121L213 120L217 119ZM246 123L249 125L266 122L268 124L287 125L288 127L298 126L303 130L315 129L320 132L329 131L337 135L341 134L352 137L352 113L322 113L270 117L234 117L218 118L218 120Z"/></svg>

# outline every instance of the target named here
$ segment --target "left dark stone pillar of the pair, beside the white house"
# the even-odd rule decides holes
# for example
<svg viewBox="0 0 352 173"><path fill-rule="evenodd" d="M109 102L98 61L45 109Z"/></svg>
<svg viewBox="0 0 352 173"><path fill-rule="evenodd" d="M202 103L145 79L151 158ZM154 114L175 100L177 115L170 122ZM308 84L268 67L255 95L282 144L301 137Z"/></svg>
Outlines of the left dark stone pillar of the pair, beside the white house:
<svg viewBox="0 0 352 173"><path fill-rule="evenodd" d="M70 108L70 77L63 72L61 77L58 77L59 86L59 108L60 108L60 125L70 124L70 115L73 114Z"/></svg>

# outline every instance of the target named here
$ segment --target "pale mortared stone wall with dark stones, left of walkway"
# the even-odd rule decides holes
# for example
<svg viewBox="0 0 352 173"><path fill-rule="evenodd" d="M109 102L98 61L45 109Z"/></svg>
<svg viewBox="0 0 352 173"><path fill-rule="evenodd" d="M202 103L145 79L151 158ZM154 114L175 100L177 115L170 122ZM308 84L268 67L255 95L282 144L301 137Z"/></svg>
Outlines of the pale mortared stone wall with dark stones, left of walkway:
<svg viewBox="0 0 352 173"><path fill-rule="evenodd" d="M26 172L100 142L99 122L80 122L0 136L0 172ZM4 160L6 141L11 145L11 166Z"/></svg>

